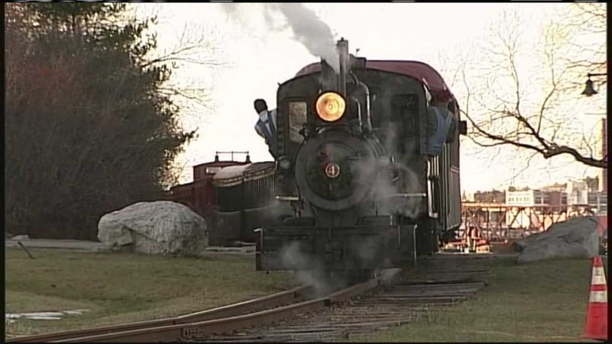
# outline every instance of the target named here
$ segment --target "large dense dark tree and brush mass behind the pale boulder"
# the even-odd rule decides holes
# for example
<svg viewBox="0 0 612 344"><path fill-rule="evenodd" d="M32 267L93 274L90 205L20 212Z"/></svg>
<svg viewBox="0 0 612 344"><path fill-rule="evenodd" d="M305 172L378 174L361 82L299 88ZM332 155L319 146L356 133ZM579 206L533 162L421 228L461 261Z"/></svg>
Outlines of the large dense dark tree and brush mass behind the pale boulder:
<svg viewBox="0 0 612 344"><path fill-rule="evenodd" d="M71 35L56 23L32 37L37 13L23 4L5 8L9 231L94 239L106 212L166 198L162 186L175 182L174 160L193 138L168 101L168 64L155 54L133 61L141 55L108 45L96 50L91 36ZM165 61L177 54L170 51Z"/></svg>

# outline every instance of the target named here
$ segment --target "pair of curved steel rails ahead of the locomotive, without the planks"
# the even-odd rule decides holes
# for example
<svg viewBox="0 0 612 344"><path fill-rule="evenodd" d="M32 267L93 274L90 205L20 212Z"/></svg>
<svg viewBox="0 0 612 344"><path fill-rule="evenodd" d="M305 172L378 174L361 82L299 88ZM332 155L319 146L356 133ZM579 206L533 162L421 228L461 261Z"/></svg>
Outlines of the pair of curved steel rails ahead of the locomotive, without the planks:
<svg viewBox="0 0 612 344"><path fill-rule="evenodd" d="M383 280L392 278L398 271L398 269L394 270L385 271L376 279L315 299L308 299L315 292L313 286L302 286L282 293L174 318L28 335L10 338L6 342L176 342L194 340L211 334L223 334L247 327L261 326L291 318L296 313L310 312L346 301L376 288Z"/></svg>

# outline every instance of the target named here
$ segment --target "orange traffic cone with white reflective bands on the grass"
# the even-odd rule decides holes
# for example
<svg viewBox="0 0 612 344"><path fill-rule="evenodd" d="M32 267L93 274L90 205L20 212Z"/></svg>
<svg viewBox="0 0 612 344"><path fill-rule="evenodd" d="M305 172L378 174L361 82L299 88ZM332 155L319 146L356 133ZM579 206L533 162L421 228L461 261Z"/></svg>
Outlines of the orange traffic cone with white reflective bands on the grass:
<svg viewBox="0 0 612 344"><path fill-rule="evenodd" d="M593 258L591 294L586 310L584 337L608 340L608 286L603 271L602 256Z"/></svg>

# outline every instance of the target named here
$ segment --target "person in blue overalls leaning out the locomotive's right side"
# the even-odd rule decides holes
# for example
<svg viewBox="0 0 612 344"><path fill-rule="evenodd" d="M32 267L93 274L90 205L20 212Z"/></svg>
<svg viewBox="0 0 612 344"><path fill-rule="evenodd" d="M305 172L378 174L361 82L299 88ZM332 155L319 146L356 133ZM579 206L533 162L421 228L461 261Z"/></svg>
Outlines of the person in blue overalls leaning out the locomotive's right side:
<svg viewBox="0 0 612 344"><path fill-rule="evenodd" d="M457 130L457 118L449 110L450 93L436 92L427 108L427 155L442 153L444 143L452 143Z"/></svg>

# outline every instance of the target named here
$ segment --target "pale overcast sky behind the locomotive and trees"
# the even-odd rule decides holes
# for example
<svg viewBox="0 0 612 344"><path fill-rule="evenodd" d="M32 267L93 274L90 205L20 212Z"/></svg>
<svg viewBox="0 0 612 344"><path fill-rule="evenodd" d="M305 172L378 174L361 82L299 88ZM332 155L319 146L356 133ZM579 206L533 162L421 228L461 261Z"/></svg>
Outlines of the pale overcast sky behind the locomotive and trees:
<svg viewBox="0 0 612 344"><path fill-rule="evenodd" d="M189 166L211 161L217 150L250 151L253 161L271 160L264 141L253 129L256 121L253 100L264 98L271 108L275 107L278 83L292 78L304 65L319 60L293 39L291 29L283 26L282 16L268 12L271 17L267 17L263 4L134 6L139 15L155 12L159 16L160 49L174 47L177 37L185 31L187 39L204 36L214 47L214 50L202 51L198 59L221 64L185 64L173 75L174 83L205 88L209 92L204 104L182 103L185 127L198 127L200 133L180 158L187 166L182 181L192 180ZM554 18L559 6L567 4L305 4L329 26L334 39L345 37L349 41L351 53L359 48L359 56L368 59L424 61L438 69L449 84L452 76L445 73L450 69L441 64L452 64L456 53L465 53L474 47L475 42L486 36L491 20L502 10L519 10L526 18L525 34L534 37L535 44L542 24ZM461 90L453 89L453 92L461 103ZM605 94L600 97L605 98ZM580 125L592 129L598 119L585 116ZM461 153L461 187L468 192L505 188L512 183L539 187L597 174L597 170L573 163L570 158L544 161L537 157L529 162L529 168L520 172L526 167L526 158L518 162L513 158L526 157L524 151L475 148L465 137L461 138L461 144L465 148Z"/></svg>

